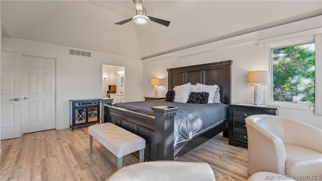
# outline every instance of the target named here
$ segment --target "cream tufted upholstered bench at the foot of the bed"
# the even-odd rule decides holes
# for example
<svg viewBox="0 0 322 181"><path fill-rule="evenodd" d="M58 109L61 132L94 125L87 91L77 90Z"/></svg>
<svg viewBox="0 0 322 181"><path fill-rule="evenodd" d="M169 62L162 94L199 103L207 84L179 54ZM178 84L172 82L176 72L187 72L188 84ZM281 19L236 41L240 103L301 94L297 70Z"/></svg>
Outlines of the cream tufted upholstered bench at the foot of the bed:
<svg viewBox="0 0 322 181"><path fill-rule="evenodd" d="M122 167L123 156L139 150L140 162L144 161L145 139L112 123L89 127L90 151L93 152L93 137L116 156L117 169Z"/></svg>

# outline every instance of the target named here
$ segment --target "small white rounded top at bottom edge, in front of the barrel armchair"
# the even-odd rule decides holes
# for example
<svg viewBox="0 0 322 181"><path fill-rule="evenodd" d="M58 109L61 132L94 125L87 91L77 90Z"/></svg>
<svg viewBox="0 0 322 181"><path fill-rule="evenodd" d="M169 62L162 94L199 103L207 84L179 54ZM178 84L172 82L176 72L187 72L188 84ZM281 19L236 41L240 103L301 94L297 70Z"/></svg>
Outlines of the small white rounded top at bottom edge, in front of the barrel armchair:
<svg viewBox="0 0 322 181"><path fill-rule="evenodd" d="M256 181L261 181L261 180L274 180L274 181L281 181L281 180L293 180L290 178L290 176L285 176L277 173L271 173L271 172L257 172L252 174L246 181L251 181L251 180L256 180ZM295 181L295 180L294 180Z"/></svg>

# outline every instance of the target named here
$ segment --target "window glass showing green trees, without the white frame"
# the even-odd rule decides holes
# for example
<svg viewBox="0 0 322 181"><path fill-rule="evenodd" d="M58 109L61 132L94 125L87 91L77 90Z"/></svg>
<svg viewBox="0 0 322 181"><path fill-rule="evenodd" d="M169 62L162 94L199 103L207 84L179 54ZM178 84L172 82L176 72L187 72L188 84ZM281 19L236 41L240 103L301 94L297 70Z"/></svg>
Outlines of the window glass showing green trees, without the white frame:
<svg viewBox="0 0 322 181"><path fill-rule="evenodd" d="M315 43L271 49L273 101L315 103Z"/></svg>

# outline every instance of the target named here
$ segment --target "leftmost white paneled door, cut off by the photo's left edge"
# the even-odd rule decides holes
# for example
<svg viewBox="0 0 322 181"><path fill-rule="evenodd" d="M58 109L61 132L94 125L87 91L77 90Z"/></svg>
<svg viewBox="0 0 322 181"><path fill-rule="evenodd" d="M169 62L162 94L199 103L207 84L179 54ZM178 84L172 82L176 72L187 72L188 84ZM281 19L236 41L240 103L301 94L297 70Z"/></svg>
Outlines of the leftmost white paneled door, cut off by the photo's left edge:
<svg viewBox="0 0 322 181"><path fill-rule="evenodd" d="M21 55L1 52L1 139L21 136Z"/></svg>

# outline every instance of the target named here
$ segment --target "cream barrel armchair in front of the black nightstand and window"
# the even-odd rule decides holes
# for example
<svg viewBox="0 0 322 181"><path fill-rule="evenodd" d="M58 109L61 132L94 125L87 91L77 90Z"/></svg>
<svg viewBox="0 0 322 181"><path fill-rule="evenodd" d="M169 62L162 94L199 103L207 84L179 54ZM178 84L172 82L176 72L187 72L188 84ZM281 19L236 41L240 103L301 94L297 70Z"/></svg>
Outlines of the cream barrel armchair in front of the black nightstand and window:
<svg viewBox="0 0 322 181"><path fill-rule="evenodd" d="M267 171L290 175L296 180L301 180L303 175L321 179L321 129L272 115L249 116L246 125L250 174Z"/></svg>

